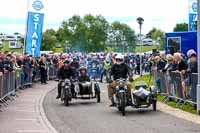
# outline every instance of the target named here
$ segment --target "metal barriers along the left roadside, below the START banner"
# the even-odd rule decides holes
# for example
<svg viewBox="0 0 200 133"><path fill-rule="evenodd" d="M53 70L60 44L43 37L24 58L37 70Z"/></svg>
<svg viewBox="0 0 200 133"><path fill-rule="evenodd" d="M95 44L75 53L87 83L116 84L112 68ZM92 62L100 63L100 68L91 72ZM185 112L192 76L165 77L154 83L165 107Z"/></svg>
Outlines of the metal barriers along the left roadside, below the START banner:
<svg viewBox="0 0 200 133"><path fill-rule="evenodd" d="M40 70L34 68L35 81L40 80ZM57 75L55 66L49 68L49 76L53 79ZM7 105L6 100L15 95L15 91L25 86L32 85L33 70L32 68L17 68L13 72L1 73L0 72L0 104ZM1 106L0 106L1 107ZM0 110L1 111L1 110Z"/></svg>

